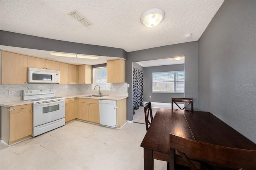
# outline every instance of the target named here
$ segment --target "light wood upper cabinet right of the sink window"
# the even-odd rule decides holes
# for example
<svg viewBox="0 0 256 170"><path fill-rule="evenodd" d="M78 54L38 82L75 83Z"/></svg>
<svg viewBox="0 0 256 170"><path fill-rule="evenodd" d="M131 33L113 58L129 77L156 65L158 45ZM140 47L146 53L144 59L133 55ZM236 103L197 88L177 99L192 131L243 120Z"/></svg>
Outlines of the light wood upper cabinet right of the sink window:
<svg viewBox="0 0 256 170"><path fill-rule="evenodd" d="M125 61L123 59L107 61L107 82L125 82Z"/></svg>

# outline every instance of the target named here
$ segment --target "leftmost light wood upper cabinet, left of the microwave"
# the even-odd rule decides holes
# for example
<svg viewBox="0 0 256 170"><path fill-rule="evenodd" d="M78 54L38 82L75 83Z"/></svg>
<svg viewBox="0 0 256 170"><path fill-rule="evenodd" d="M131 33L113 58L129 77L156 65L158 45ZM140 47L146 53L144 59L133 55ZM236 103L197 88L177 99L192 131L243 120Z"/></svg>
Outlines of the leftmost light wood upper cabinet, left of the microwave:
<svg viewBox="0 0 256 170"><path fill-rule="evenodd" d="M2 84L28 83L28 56L2 51Z"/></svg>

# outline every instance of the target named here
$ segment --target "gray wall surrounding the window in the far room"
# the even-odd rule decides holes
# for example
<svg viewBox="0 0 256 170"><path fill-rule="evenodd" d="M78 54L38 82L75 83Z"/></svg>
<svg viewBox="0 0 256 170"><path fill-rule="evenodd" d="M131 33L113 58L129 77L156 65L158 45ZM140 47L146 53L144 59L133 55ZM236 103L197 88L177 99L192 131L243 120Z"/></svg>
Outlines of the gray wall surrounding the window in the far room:
<svg viewBox="0 0 256 170"><path fill-rule="evenodd" d="M145 102L160 102L171 103L171 98L184 98L184 93L152 93L152 72L166 71L183 71L185 64L175 64L166 66L144 67L144 101ZM151 98L149 97L151 96Z"/></svg>

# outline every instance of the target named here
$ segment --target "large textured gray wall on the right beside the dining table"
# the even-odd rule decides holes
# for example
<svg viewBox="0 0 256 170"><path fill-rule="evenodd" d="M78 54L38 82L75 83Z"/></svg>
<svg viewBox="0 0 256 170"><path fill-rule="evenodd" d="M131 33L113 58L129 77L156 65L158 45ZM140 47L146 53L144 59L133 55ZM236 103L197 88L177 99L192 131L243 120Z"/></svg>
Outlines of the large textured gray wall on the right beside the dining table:
<svg viewBox="0 0 256 170"><path fill-rule="evenodd" d="M225 1L198 41L198 109L256 143L256 1Z"/></svg>

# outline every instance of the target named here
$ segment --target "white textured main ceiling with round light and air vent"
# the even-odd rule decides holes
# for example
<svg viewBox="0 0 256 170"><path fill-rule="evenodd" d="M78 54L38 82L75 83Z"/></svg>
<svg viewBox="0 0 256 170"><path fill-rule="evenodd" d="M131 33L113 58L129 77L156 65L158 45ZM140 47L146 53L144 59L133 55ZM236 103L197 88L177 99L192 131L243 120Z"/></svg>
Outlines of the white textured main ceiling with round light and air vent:
<svg viewBox="0 0 256 170"><path fill-rule="evenodd" d="M1 0L0 29L76 43L116 47L127 52L198 41L223 0ZM156 27L141 15L165 12ZM85 27L68 13L77 10L93 25ZM192 37L185 35L192 33Z"/></svg>

